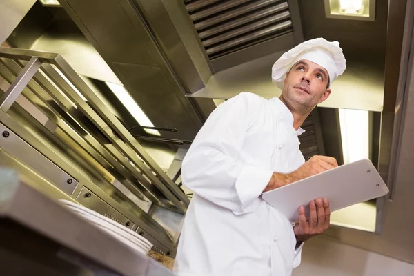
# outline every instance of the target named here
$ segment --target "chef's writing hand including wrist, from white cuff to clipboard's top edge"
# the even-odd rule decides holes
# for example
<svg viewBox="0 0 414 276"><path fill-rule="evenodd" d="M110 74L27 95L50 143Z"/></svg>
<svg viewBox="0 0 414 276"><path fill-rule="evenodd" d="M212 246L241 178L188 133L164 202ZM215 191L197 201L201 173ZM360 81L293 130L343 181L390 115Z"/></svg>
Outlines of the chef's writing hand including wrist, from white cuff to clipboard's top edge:
<svg viewBox="0 0 414 276"><path fill-rule="evenodd" d="M337 161L333 157L314 155L294 172L288 174L273 172L268 185L263 191L267 192L269 190L274 190L295 181L299 181L300 179L317 175L319 172L324 172L325 170L330 170L331 168L335 168L337 166Z"/></svg>

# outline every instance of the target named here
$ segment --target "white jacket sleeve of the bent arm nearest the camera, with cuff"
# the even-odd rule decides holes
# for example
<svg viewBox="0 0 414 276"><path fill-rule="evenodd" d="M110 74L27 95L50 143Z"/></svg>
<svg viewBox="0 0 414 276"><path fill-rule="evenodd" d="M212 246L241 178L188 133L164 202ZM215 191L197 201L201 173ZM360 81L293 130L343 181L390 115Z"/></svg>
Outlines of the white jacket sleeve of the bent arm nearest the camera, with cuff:
<svg viewBox="0 0 414 276"><path fill-rule="evenodd" d="M181 168L183 184L195 195L235 214L255 210L273 172L246 164L239 157L263 106L257 95L241 93L221 103L208 117Z"/></svg>

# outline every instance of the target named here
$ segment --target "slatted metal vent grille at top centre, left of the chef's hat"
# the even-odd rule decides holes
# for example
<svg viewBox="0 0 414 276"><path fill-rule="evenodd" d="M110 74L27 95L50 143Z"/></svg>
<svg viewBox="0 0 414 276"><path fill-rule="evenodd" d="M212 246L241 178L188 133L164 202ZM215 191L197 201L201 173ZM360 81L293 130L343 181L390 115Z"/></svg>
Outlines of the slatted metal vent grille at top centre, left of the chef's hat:
<svg viewBox="0 0 414 276"><path fill-rule="evenodd" d="M184 0L210 59L293 32L287 1Z"/></svg>

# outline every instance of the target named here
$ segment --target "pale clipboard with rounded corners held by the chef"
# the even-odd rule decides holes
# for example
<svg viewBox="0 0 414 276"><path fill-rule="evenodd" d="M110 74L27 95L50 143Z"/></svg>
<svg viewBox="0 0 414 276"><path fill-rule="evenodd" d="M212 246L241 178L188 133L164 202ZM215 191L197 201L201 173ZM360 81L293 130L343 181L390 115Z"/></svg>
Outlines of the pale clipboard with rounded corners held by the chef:
<svg viewBox="0 0 414 276"><path fill-rule="evenodd" d="M372 162L363 159L270 190L262 194L262 199L295 223L299 221L299 206L305 206L306 217L309 217L309 202L313 199L328 199L334 212L388 192Z"/></svg>

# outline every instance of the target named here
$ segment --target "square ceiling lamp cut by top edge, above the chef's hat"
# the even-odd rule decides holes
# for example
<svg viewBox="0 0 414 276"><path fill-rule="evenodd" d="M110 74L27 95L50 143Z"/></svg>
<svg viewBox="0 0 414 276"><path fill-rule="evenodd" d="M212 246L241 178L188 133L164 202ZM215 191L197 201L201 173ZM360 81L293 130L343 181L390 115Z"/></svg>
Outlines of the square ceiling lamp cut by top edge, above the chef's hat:
<svg viewBox="0 0 414 276"><path fill-rule="evenodd" d="M325 0L327 18L375 21L375 0Z"/></svg>

